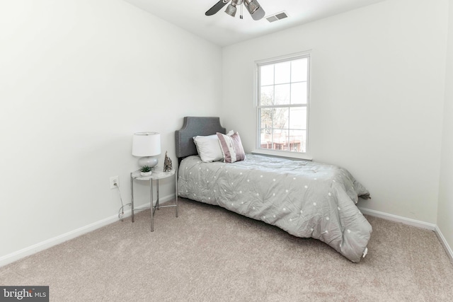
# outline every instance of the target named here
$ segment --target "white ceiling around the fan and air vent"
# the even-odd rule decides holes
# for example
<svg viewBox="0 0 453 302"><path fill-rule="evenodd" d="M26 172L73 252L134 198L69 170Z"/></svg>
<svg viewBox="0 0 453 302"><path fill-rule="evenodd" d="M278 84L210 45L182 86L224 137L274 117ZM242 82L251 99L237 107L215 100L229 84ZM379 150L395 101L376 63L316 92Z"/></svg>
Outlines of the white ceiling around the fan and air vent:
<svg viewBox="0 0 453 302"><path fill-rule="evenodd" d="M226 46L384 0L258 0L265 17L282 11L287 13L288 18L273 23L265 18L253 21L246 8L243 8L242 20L239 8L233 18L224 13L226 6L214 16L205 16L205 12L219 0L125 1L214 44Z"/></svg>

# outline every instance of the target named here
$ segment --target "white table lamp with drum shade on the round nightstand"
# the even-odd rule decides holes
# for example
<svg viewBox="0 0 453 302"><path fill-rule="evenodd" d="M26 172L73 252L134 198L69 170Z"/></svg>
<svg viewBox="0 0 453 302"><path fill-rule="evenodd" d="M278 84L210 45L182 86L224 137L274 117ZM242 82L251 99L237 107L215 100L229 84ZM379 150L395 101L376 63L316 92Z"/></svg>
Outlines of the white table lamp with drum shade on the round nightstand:
<svg viewBox="0 0 453 302"><path fill-rule="evenodd" d="M141 156L139 166L152 168L159 162L161 134L158 132L137 132L132 139L132 155Z"/></svg>

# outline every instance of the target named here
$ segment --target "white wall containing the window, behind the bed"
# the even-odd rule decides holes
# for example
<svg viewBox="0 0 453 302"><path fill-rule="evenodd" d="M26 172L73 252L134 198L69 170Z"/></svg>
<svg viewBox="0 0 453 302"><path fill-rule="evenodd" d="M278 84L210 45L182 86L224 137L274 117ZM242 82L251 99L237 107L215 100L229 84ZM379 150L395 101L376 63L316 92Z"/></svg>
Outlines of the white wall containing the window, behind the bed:
<svg viewBox="0 0 453 302"><path fill-rule="evenodd" d="M312 50L309 141L371 192L360 206L436 223L447 0L392 0L225 47L222 117L254 148L253 68Z"/></svg>

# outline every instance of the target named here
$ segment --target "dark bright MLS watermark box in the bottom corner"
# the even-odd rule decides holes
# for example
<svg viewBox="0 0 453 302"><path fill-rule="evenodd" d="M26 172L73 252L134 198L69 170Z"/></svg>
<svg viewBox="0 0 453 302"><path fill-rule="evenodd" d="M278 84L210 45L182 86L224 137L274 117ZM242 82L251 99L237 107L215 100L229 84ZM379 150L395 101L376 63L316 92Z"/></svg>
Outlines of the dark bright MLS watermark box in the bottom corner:
<svg viewBox="0 0 453 302"><path fill-rule="evenodd" d="M0 286L0 302L49 302L49 286Z"/></svg>

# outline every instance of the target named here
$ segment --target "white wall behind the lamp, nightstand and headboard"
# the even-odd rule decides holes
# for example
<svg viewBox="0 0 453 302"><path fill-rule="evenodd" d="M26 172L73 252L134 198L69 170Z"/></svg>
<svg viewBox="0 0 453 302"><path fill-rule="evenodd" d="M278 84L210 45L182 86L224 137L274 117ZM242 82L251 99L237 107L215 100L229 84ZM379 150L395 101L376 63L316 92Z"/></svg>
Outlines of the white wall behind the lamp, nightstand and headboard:
<svg viewBox="0 0 453 302"><path fill-rule="evenodd" d="M125 1L0 1L0 260L114 218L132 134L161 132L174 163L183 116L220 114L221 69L219 47Z"/></svg>

